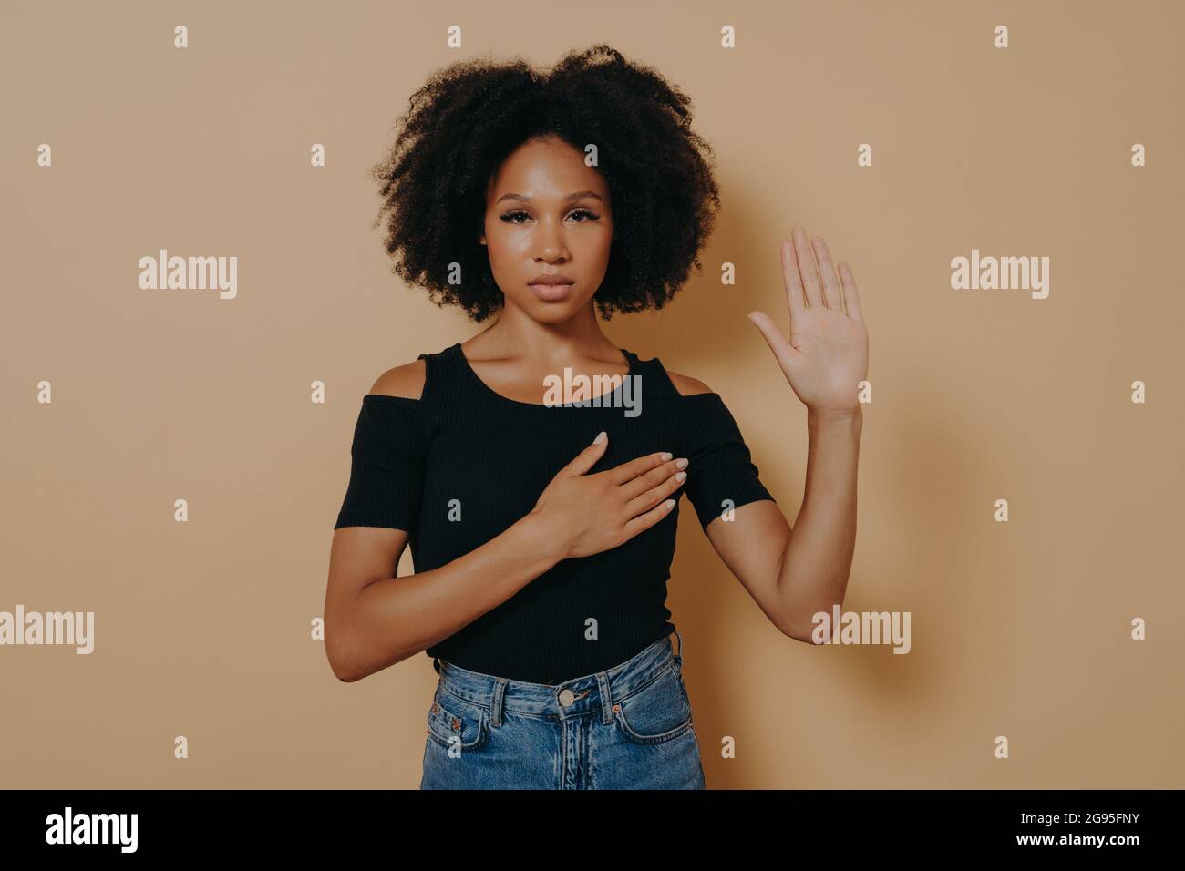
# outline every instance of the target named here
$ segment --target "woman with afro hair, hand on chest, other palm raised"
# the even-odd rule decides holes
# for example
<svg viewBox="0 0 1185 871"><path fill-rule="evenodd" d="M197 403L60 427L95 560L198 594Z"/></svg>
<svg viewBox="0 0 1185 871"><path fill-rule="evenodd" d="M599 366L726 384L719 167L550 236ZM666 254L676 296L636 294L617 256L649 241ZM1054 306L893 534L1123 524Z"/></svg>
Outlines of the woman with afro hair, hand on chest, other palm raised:
<svg viewBox="0 0 1185 871"><path fill-rule="evenodd" d="M750 314L808 408L793 537L720 396L615 347L594 312L661 308L700 267L719 199L687 103L603 45L547 73L462 63L376 167L395 270L475 321L500 312L378 378L334 527L334 673L427 651L440 674L421 788L704 787L664 604L684 492L784 634L809 642L843 603L867 371L851 271L815 239L816 271L798 230L790 341ZM392 577L408 544L416 571Z"/></svg>

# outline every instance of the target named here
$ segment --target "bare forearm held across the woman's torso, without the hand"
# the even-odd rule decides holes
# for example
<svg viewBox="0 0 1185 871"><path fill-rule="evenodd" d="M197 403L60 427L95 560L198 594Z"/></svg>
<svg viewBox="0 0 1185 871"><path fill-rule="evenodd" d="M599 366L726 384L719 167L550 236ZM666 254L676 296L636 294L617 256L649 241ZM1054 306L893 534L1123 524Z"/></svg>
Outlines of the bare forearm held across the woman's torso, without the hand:
<svg viewBox="0 0 1185 871"><path fill-rule="evenodd" d="M558 542L536 514L429 571L367 584L350 604L348 680L359 680L453 635L558 563Z"/></svg>

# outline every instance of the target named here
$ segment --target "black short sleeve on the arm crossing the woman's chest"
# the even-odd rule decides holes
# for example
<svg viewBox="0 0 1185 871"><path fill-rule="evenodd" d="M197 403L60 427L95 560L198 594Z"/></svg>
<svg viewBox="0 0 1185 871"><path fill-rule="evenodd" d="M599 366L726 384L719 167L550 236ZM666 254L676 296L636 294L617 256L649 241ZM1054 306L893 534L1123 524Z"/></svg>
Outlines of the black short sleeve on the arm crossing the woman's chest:
<svg viewBox="0 0 1185 871"><path fill-rule="evenodd" d="M385 526L415 533L427 465L419 415L418 399L363 397L350 449L350 485L333 529Z"/></svg>

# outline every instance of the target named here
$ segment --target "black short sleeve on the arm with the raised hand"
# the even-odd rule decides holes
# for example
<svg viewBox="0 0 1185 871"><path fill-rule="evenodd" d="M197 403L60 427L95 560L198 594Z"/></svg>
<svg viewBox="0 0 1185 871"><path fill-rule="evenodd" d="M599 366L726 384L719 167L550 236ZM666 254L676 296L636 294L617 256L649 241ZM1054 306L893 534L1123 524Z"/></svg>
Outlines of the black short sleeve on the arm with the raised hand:
<svg viewBox="0 0 1185 871"><path fill-rule="evenodd" d="M741 429L718 393L685 396L683 411L690 461L684 492L705 532L730 507L777 501L762 485Z"/></svg>

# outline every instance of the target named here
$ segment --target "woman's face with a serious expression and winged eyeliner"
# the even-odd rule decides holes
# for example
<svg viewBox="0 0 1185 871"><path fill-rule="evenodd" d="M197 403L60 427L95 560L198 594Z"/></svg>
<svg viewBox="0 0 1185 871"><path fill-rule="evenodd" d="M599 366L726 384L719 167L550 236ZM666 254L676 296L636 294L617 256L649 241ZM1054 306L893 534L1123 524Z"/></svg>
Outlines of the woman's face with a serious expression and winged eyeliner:
<svg viewBox="0 0 1185 871"><path fill-rule="evenodd" d="M524 142L502 161L480 241L506 305L546 322L588 307L609 267L610 205L604 178L563 140ZM564 283L536 283L542 276Z"/></svg>

